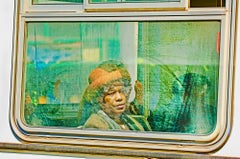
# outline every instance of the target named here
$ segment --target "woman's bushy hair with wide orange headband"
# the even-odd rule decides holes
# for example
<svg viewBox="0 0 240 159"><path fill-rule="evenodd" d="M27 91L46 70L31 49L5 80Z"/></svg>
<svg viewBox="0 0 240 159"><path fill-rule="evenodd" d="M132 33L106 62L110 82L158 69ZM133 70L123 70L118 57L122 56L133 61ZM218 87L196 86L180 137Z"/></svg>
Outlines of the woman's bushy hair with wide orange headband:
<svg viewBox="0 0 240 159"><path fill-rule="evenodd" d="M115 72L112 74L112 72ZM131 77L125 65L120 61L109 60L98 65L89 75L89 85L85 89L80 101L78 119L83 125L92 113L101 110L104 92L115 82L124 86L126 97L131 91Z"/></svg>

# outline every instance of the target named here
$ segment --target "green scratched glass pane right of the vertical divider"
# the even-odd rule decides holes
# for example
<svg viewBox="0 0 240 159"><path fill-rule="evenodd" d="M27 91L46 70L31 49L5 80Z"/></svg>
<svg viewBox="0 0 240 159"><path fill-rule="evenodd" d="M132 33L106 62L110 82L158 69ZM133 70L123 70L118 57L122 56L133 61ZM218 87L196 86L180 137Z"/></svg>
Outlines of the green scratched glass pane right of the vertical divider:
<svg viewBox="0 0 240 159"><path fill-rule="evenodd" d="M154 131L214 130L219 31L217 21L140 24L138 79Z"/></svg>

